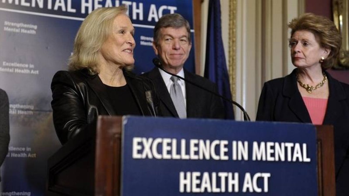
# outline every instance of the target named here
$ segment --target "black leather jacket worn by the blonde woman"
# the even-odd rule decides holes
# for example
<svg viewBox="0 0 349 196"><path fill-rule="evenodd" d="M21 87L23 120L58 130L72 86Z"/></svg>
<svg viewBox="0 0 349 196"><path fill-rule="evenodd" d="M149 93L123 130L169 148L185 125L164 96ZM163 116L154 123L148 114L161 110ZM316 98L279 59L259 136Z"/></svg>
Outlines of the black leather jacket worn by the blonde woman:
<svg viewBox="0 0 349 196"><path fill-rule="evenodd" d="M124 71L143 116L156 116L158 101L148 78ZM95 122L98 115L115 115L106 87L88 70L58 71L52 79L53 123L62 144ZM147 95L146 95L147 94Z"/></svg>

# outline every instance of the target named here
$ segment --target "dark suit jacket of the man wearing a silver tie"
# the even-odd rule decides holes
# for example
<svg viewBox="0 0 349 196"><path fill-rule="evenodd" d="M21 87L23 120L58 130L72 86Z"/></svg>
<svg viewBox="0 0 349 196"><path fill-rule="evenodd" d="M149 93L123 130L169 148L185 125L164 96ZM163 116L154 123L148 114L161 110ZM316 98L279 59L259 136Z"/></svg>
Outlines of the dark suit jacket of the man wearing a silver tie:
<svg viewBox="0 0 349 196"><path fill-rule="evenodd" d="M158 68L143 74L149 77L155 86L159 98L159 113L162 116L177 117L176 108L173 105L170 93L166 88L165 82ZM217 92L216 84L207 78L195 75L184 69L184 77L195 84L199 84L211 91ZM192 84L185 83L187 118L216 118L224 119L224 110L222 101L219 97L210 92L202 90ZM217 92L218 93L218 92Z"/></svg>

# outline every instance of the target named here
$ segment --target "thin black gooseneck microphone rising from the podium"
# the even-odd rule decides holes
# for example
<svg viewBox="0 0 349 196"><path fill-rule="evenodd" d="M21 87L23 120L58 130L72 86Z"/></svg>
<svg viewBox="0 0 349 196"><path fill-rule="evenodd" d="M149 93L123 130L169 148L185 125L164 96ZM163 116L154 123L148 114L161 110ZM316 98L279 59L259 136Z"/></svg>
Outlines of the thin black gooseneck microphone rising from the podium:
<svg viewBox="0 0 349 196"><path fill-rule="evenodd" d="M185 79L185 78L183 78L183 77L177 76L176 74L172 74L172 73L166 71L166 70L163 68L162 63L160 62L160 59L158 59L158 58L154 58L154 59L153 59L153 63L154 63L154 65L155 65L155 67L157 67L157 68L159 68L159 69L165 71L166 73L168 73L168 74L170 74L170 75L172 75L172 76L178 77L179 79L184 80L185 82L188 82L188 83L190 83L190 84L192 84L192 85L194 85L194 86L196 86L196 87L198 87L198 88L200 88L200 89L202 89L202 90L205 90L205 91L207 91L207 92L210 92L210 93L212 93L213 95L218 96L218 97L224 99L225 101L229 101L230 103L236 105L236 106L237 106L238 108L240 108L240 110L243 112L243 114L244 114L244 121L251 121L250 116L248 116L246 110L245 110L240 104L238 104L236 101L233 101L233 100L231 100L231 99L225 98L225 97L223 97L222 95L220 95L220 94L218 94L218 93L216 93L216 92L213 92L213 91L211 91L211 90L209 90L209 89L207 89L207 88L205 88L205 87L203 87L203 86L200 86L200 85L198 85L198 84L195 84L194 82L191 82L191 81L189 81L189 80L187 80L187 79Z"/></svg>

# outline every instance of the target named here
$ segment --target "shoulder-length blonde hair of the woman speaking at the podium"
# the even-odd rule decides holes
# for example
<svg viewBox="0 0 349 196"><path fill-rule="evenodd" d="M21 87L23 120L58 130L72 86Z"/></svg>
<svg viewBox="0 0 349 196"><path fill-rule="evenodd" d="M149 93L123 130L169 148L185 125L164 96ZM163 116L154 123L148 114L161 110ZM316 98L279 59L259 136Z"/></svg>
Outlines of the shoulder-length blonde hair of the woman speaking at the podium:
<svg viewBox="0 0 349 196"><path fill-rule="evenodd" d="M76 33L74 50L69 58L69 70L88 69L98 74L98 55L103 43L113 30L114 19L126 14L127 7L103 7L92 11L82 22ZM133 66L127 66L132 69Z"/></svg>

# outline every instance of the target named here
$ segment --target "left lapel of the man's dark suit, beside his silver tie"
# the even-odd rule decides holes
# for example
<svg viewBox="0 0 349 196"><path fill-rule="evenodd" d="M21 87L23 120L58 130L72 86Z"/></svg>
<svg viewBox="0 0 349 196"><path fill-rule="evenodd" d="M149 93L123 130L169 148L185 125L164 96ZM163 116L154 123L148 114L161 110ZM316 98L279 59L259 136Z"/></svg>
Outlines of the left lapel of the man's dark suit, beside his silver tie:
<svg viewBox="0 0 349 196"><path fill-rule="evenodd" d="M168 108L168 110L171 112L173 116L177 116L176 108L173 105L172 99L170 97L170 93L167 90L167 87L165 85L164 80L162 79L162 76L158 70L158 68L154 68L150 71L149 77L153 80L155 90L157 92L157 95L159 99L162 101L162 103Z"/></svg>

